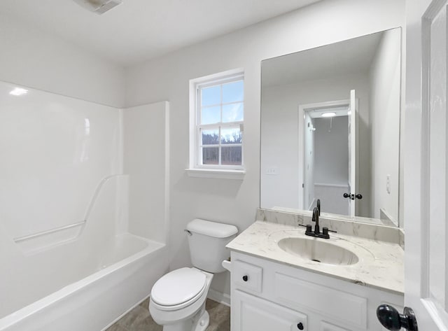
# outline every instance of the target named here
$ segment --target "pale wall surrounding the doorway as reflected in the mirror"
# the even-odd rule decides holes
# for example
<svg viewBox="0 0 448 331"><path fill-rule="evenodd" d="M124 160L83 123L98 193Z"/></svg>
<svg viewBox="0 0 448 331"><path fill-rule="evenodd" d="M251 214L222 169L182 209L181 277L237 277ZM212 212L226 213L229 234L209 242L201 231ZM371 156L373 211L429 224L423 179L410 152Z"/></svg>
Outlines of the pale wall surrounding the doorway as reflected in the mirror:
<svg viewBox="0 0 448 331"><path fill-rule="evenodd" d="M262 208L282 206L302 209L300 204L303 201L304 192L302 190L304 152L300 144L303 139L303 128L299 125L298 106L349 99L350 90L353 88L356 88L356 95L359 99L358 185L365 188L370 187L370 115L367 73L263 87L260 201ZM316 151L314 151L314 156L316 156ZM276 176L267 175L266 168L274 164L278 169L278 174ZM321 174L322 172L320 171ZM321 183L321 180L318 179L318 174L315 172L314 181ZM369 199L359 200L358 206L358 216L370 216ZM325 206L322 207L325 211Z"/></svg>

